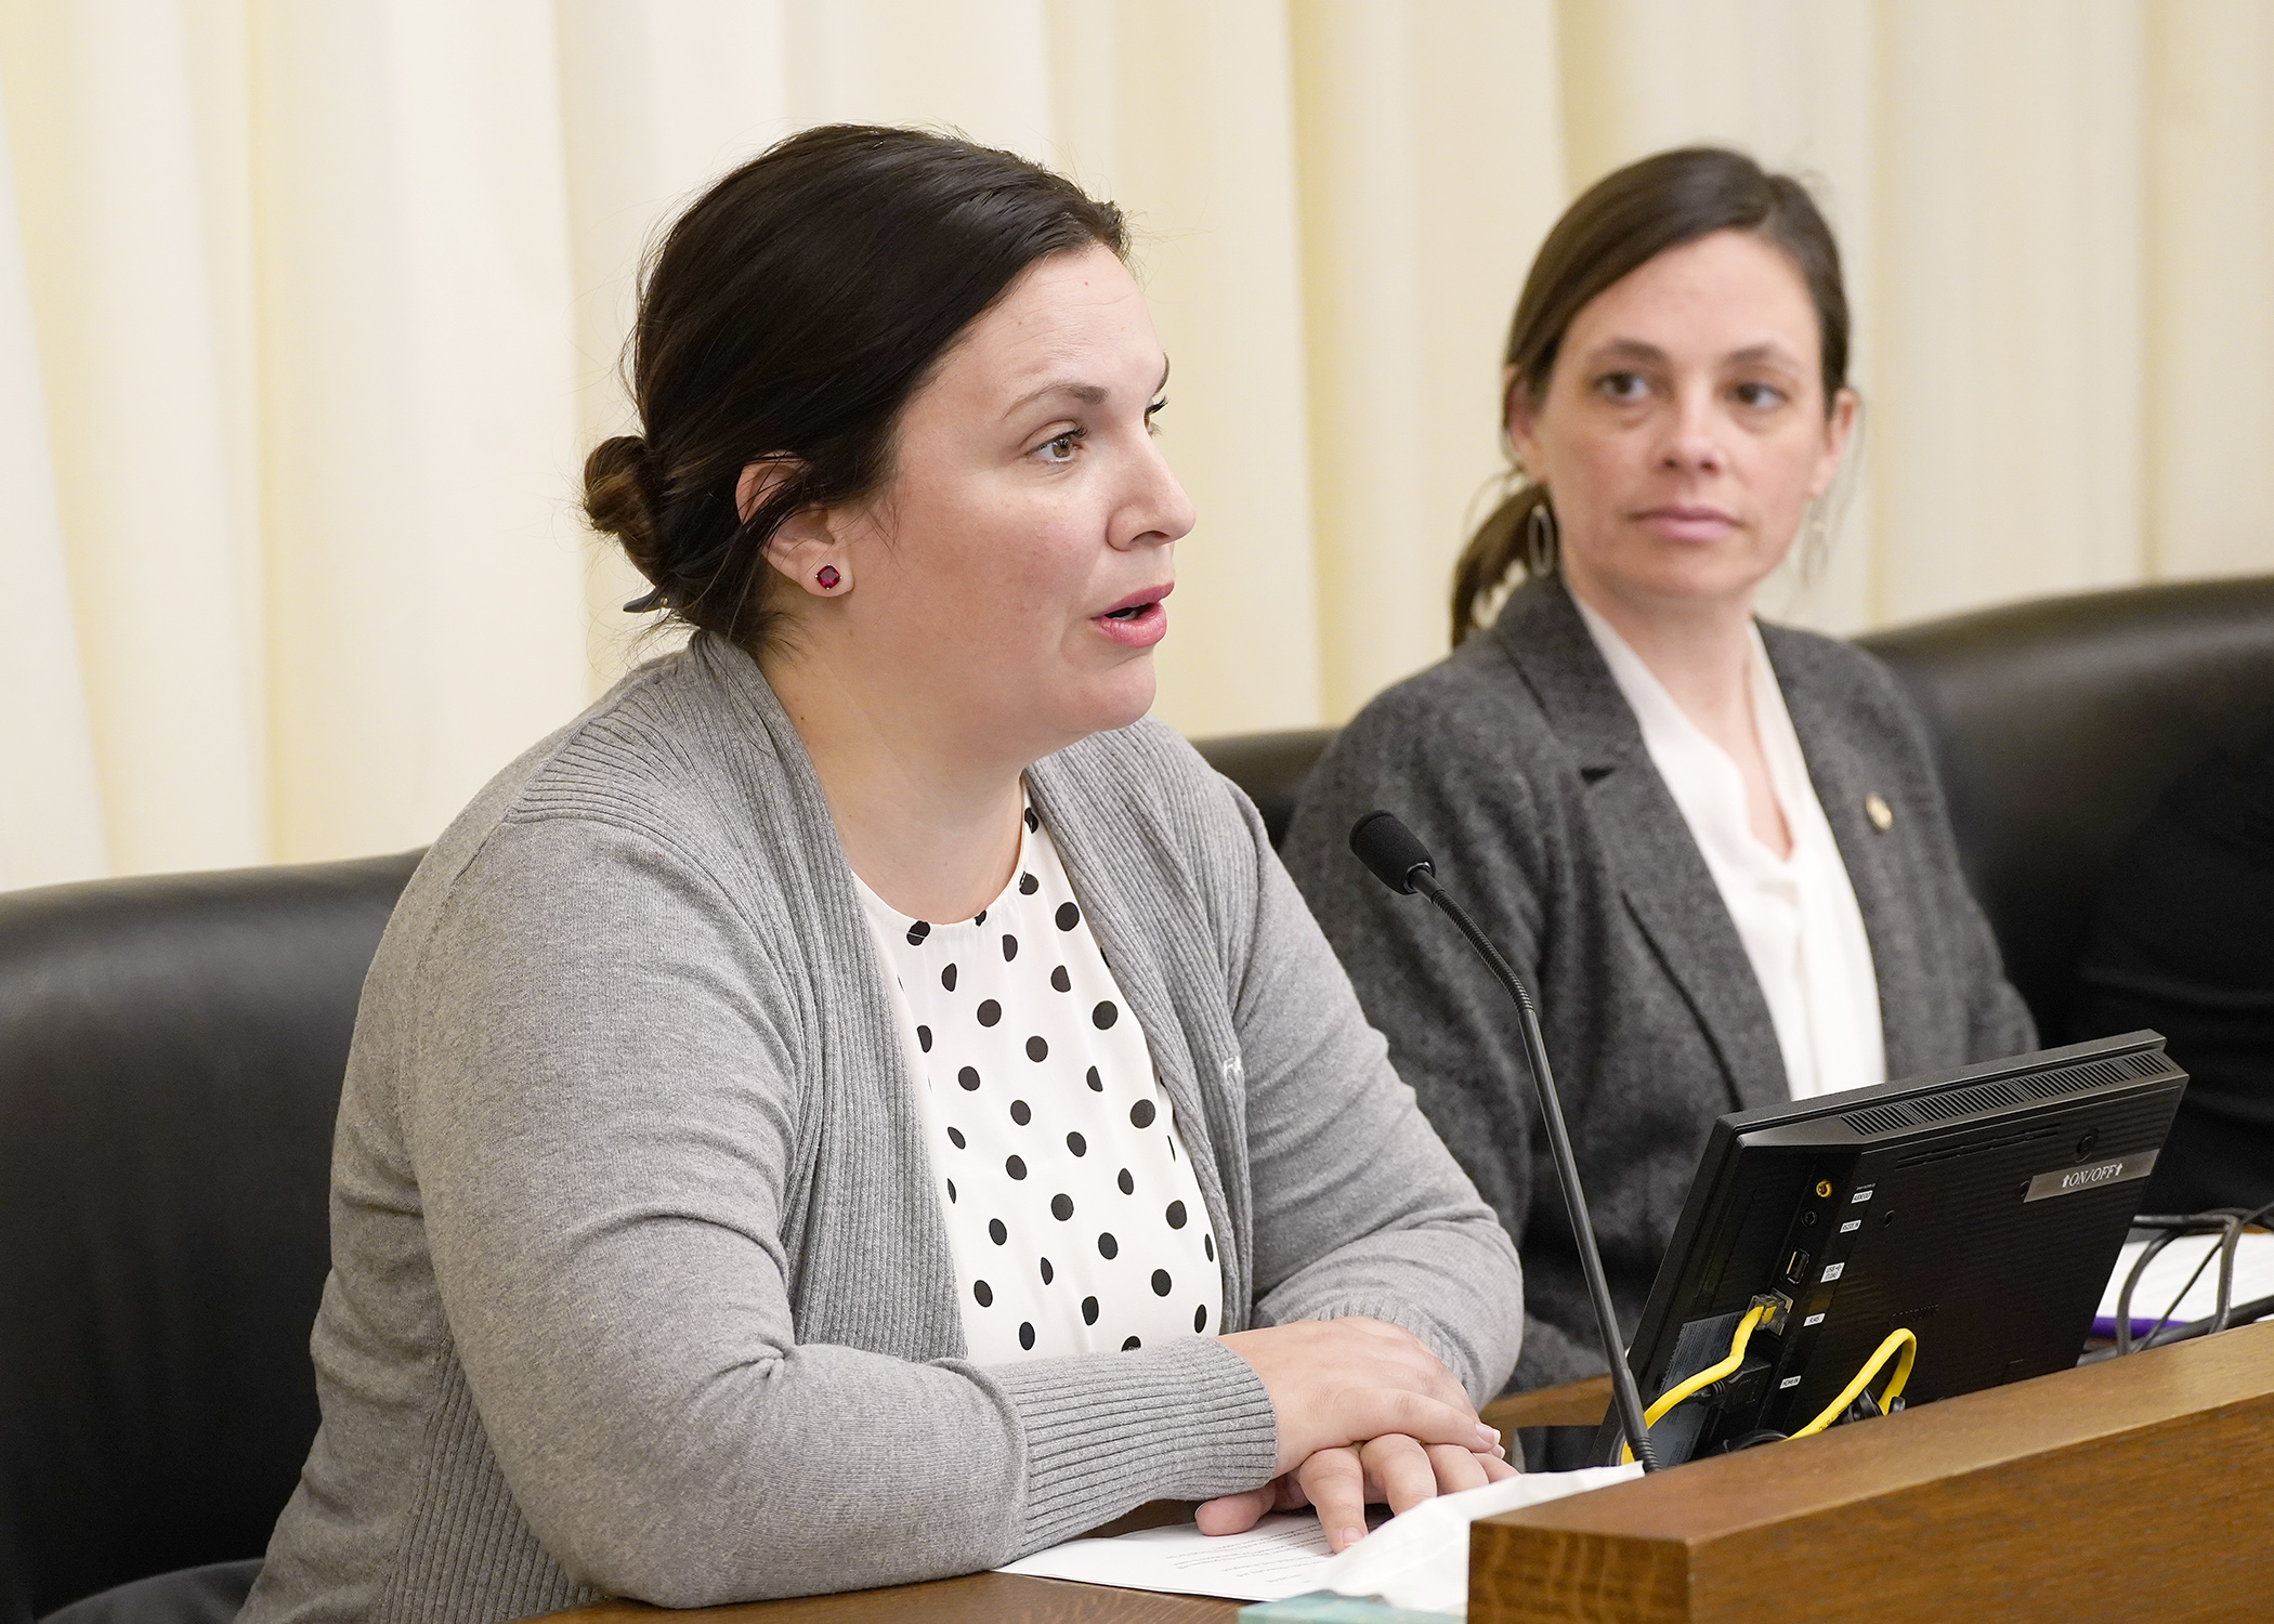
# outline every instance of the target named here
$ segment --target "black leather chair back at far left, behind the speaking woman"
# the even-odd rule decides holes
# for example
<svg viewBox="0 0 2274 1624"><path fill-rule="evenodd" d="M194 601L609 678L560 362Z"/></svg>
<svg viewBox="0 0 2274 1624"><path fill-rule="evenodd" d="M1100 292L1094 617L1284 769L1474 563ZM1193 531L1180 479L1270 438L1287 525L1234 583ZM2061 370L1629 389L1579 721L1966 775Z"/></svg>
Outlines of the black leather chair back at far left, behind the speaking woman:
<svg viewBox="0 0 2274 1624"><path fill-rule="evenodd" d="M0 896L0 1617L259 1556L332 1119L416 853Z"/></svg>

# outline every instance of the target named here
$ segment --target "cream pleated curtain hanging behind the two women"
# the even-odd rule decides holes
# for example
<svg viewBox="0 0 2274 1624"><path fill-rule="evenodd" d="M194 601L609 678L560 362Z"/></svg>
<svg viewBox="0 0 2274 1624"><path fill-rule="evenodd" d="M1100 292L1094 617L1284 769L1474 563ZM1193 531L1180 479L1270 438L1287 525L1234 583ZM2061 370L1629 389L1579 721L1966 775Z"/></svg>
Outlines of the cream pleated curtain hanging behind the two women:
<svg viewBox="0 0 2274 1624"><path fill-rule="evenodd" d="M1735 141L1849 255L1828 630L2274 569L2260 0L0 0L0 887L402 848L641 644L575 521L641 248L807 123L1139 221L1160 712L1444 648L1574 189Z"/></svg>

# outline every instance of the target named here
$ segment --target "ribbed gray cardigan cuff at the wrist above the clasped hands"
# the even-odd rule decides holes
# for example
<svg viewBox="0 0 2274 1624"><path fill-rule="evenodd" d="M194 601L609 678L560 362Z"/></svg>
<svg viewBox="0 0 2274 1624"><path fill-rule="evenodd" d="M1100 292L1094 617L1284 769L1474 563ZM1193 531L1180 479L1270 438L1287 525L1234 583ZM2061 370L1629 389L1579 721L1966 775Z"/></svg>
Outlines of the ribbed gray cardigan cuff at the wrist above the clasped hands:
<svg viewBox="0 0 2274 1624"><path fill-rule="evenodd" d="M1258 1488L1278 1458L1271 1394L1214 1337L1157 1349L991 1365L1026 1440L1026 1526L1039 1551L1148 1499Z"/></svg>

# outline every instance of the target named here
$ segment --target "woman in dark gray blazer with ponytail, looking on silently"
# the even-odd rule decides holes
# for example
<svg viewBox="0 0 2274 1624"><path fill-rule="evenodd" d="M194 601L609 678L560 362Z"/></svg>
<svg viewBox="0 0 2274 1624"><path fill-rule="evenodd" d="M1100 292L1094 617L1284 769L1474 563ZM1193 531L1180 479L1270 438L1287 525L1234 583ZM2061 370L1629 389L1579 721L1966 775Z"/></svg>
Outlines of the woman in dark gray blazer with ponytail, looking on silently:
<svg viewBox="0 0 2274 1624"><path fill-rule="evenodd" d="M1460 560L1455 653L1342 732L1287 837L1521 1246L1519 1387L1599 1372L1601 1342L1517 1024L1351 860L1364 812L1412 823L1537 985L1628 1326L1717 1115L2033 1046L1890 673L1753 619L1849 441L1846 355L1840 252L1790 177L1680 150L1574 202L1510 330L1521 484Z"/></svg>

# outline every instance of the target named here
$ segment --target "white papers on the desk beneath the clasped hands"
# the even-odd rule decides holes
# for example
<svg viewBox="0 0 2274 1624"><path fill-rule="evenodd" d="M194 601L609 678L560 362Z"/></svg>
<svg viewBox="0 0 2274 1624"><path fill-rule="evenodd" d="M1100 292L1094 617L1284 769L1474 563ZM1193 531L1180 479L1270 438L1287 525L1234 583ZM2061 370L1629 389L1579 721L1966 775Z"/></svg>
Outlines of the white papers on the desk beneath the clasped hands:
<svg viewBox="0 0 2274 1624"><path fill-rule="evenodd" d="M1230 1601L1283 1601L1308 1590L1339 1590L1346 1597L1383 1597L1399 1606L1458 1615L1469 1604L1471 1522L1635 1476L1642 1476L1640 1465L1535 1472L1439 1494L1380 1524L1342 1556L1328 1553L1319 1519L1301 1510L1264 1517L1246 1533L1219 1538L1185 1522L1112 1540L1067 1540L998 1572ZM1433 1599L1408 1599L1424 1594Z"/></svg>

